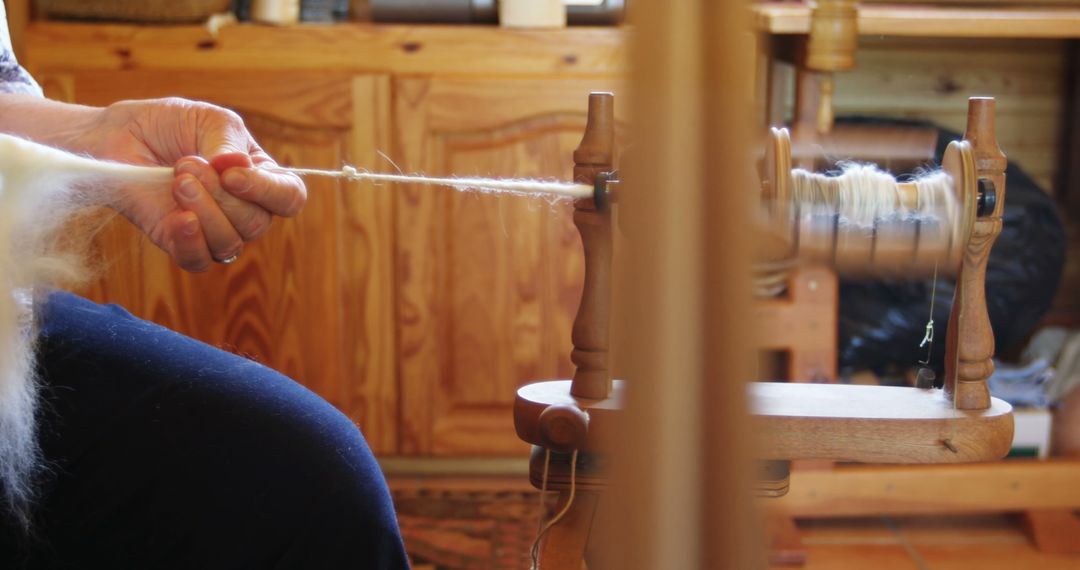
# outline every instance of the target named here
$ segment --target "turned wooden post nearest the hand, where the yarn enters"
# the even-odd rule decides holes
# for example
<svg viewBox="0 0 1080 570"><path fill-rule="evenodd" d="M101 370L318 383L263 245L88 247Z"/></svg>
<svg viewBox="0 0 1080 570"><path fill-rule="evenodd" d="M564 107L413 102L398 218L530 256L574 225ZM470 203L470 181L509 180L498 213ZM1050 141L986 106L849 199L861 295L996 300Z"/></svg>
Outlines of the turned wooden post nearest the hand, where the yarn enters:
<svg viewBox="0 0 1080 570"><path fill-rule="evenodd" d="M589 122L581 145L573 151L573 179L594 184L596 175L610 172L615 154L615 96L589 95ZM600 399L611 394L608 365L608 330L611 320L611 215L597 208L593 199L573 205L573 225L581 232L585 252L585 283L581 304L573 321L573 352L577 367L570 394Z"/></svg>

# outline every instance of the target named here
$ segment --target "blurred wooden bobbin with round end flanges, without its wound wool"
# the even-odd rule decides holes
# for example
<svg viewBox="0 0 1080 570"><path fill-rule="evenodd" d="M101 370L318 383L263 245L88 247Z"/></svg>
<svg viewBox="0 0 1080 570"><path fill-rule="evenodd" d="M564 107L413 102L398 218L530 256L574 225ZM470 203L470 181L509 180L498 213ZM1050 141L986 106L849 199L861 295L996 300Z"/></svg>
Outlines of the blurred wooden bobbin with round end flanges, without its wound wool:
<svg viewBox="0 0 1080 570"><path fill-rule="evenodd" d="M771 225L787 230L779 233L770 230L767 250L761 255L769 260L786 257L823 262L848 276L929 276L935 269L941 274L956 273L976 217L978 178L971 144L950 142L942 169L951 178L960 206L951 233L916 229L904 222L883 225L873 233L840 234L832 223L804 222L802 213L793 207L791 137L786 128L772 128L766 146L762 191ZM918 208L920 196L914 182L897 182L896 189L897 207Z"/></svg>

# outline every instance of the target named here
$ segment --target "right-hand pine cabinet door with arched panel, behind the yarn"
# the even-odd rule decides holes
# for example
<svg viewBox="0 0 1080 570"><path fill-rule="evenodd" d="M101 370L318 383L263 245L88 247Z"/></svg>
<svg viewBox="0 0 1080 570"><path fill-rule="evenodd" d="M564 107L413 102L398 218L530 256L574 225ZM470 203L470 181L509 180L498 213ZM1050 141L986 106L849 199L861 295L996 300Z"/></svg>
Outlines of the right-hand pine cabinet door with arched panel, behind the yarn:
<svg viewBox="0 0 1080 570"><path fill-rule="evenodd" d="M402 79L395 158L435 176L569 179L588 94L609 81ZM521 454L517 386L571 372L582 254L572 205L403 186L401 449Z"/></svg>

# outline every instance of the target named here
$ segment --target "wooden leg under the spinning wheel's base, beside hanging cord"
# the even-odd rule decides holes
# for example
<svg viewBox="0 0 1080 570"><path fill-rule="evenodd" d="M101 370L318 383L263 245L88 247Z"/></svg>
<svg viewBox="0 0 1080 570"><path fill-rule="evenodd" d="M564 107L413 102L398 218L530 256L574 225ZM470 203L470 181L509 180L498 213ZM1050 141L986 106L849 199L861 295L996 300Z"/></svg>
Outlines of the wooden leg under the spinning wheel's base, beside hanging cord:
<svg viewBox="0 0 1080 570"><path fill-rule="evenodd" d="M563 490L554 513L563 511L570 497ZM578 491L566 515L544 535L540 542L540 570L582 570L585 568L585 545L593 527L593 515L599 493Z"/></svg>

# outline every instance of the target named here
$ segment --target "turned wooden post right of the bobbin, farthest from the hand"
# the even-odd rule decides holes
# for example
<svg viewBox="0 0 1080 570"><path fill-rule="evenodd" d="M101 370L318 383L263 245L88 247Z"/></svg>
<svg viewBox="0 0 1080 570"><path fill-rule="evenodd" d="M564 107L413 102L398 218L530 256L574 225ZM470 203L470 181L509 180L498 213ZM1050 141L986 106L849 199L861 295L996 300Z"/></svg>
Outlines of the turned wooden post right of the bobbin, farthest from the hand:
<svg viewBox="0 0 1080 570"><path fill-rule="evenodd" d="M975 218L957 273L945 341L945 392L955 399L958 409L981 410L990 407L986 380L994 372L994 329L986 310L986 261L1001 233L1008 164L995 135L993 97L969 99L968 131L963 138L971 142L975 157L981 201L993 199L993 208L986 202Z"/></svg>

